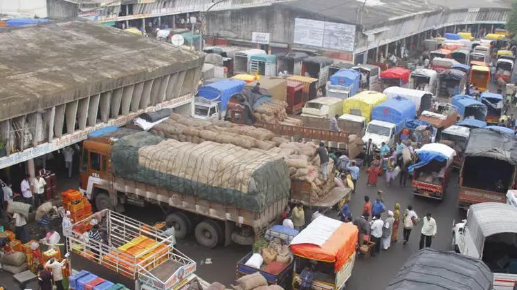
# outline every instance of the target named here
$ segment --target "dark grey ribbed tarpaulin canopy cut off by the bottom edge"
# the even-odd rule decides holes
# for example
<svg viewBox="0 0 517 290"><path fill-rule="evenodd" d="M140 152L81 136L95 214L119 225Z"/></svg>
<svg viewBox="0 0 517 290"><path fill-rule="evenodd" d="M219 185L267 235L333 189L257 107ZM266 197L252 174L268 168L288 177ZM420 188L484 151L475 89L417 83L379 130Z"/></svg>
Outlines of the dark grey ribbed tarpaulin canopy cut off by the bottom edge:
<svg viewBox="0 0 517 290"><path fill-rule="evenodd" d="M386 290L491 290L492 283L482 260L426 248L411 255Z"/></svg>

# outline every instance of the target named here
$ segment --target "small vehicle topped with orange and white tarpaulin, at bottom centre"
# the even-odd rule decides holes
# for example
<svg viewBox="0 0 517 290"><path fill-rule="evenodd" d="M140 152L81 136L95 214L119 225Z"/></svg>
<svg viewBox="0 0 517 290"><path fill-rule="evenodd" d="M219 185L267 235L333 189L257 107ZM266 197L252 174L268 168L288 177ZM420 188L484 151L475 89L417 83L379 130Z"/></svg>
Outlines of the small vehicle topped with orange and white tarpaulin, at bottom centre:
<svg viewBox="0 0 517 290"><path fill-rule="evenodd" d="M358 229L320 215L291 242L295 255L293 289L300 289L300 274L314 264L313 289L343 289L352 276Z"/></svg>

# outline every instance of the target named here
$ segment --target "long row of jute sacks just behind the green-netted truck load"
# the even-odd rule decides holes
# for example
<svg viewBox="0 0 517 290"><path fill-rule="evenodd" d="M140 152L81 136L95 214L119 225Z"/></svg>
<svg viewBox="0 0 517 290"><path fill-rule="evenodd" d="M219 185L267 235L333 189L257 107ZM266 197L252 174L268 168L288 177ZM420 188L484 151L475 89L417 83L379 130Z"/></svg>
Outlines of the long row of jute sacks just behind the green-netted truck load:
<svg viewBox="0 0 517 290"><path fill-rule="evenodd" d="M235 125L230 122L208 122L172 114L169 119L154 126L151 133L180 142L200 144L212 141L233 144L242 148L260 148L264 151L277 146L282 138L263 128Z"/></svg>

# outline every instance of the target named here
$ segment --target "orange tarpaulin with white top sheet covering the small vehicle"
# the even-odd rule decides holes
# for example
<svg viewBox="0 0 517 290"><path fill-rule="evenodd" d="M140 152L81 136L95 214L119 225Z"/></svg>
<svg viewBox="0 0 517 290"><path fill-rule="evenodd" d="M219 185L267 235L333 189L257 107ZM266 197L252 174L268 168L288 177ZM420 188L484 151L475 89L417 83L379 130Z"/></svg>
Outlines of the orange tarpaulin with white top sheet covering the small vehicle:
<svg viewBox="0 0 517 290"><path fill-rule="evenodd" d="M337 273L356 251L358 232L353 224L320 215L293 238L289 247L302 258L334 263Z"/></svg>

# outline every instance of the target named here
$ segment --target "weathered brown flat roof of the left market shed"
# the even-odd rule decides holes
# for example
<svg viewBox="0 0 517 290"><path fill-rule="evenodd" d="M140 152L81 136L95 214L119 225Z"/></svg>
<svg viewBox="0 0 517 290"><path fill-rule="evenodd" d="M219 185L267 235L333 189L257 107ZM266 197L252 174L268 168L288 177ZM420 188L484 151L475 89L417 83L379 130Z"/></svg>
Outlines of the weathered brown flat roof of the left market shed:
<svg viewBox="0 0 517 290"><path fill-rule="evenodd" d="M0 33L0 120L202 65L203 57L89 21Z"/></svg>

